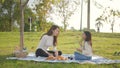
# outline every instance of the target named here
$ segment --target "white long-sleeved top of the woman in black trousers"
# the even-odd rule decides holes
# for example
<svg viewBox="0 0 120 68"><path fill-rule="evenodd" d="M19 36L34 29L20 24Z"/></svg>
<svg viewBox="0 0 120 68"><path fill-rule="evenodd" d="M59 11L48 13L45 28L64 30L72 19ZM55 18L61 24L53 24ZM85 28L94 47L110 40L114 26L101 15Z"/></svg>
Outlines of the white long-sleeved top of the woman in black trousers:
<svg viewBox="0 0 120 68"><path fill-rule="evenodd" d="M53 46L53 36L44 35L41 38L37 49L41 48L44 51L47 51L47 49L52 46ZM56 47L53 46L53 49L56 50Z"/></svg>

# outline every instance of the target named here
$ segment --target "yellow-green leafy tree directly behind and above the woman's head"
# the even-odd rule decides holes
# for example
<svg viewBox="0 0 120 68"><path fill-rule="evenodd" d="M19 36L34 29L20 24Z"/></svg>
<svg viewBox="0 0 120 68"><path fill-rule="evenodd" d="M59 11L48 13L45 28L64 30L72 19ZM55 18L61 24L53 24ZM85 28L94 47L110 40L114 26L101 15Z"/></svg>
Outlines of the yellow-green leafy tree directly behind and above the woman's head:
<svg viewBox="0 0 120 68"><path fill-rule="evenodd" d="M38 30L45 31L47 18L49 14L52 12L52 4L54 4L54 0L35 0L35 12L38 18Z"/></svg>

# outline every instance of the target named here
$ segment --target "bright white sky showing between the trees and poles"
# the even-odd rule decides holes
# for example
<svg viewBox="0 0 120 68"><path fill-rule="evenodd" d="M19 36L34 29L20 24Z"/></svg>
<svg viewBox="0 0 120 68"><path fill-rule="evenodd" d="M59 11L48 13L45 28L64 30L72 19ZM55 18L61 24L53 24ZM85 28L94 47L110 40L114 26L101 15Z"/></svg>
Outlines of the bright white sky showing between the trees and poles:
<svg viewBox="0 0 120 68"><path fill-rule="evenodd" d="M33 3L34 0L30 0L28 5L30 6ZM99 4L101 4L104 7L111 7L112 9L118 9L120 11L120 0L95 0ZM80 7L80 6L78 6ZM94 5L94 0L91 0L91 13L90 13L90 28L97 30L95 27L96 24L96 18L99 17L102 12L103 8L100 9ZM77 9L74 15L71 16L71 18L68 20L69 26L67 29L70 29L71 27L74 27L76 30L80 30L80 9ZM63 26L61 23L61 19L58 18L56 15L52 15L52 22L54 22L57 25ZM84 2L83 3L83 28L87 27L87 4ZM101 32L111 32L111 25L108 23L103 22L103 27L101 27L100 31ZM114 25L114 32L120 33L120 18L116 19L115 25Z"/></svg>

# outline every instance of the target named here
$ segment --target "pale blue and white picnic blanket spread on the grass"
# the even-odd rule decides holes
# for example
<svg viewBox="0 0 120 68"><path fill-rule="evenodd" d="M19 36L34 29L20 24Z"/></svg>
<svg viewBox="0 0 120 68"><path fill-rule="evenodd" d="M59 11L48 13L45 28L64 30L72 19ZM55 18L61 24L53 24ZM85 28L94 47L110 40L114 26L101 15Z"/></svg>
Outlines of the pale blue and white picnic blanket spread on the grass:
<svg viewBox="0 0 120 68"><path fill-rule="evenodd" d="M64 57L74 57L73 54L63 54ZM16 60L27 60L27 61L36 61L36 62L50 62L50 63L79 63L79 64L112 64L120 63L120 60L111 60L101 56L92 56L91 60L46 60L46 57L35 57L34 53L29 53L26 58L17 58L17 57L8 57L7 59L16 59Z"/></svg>

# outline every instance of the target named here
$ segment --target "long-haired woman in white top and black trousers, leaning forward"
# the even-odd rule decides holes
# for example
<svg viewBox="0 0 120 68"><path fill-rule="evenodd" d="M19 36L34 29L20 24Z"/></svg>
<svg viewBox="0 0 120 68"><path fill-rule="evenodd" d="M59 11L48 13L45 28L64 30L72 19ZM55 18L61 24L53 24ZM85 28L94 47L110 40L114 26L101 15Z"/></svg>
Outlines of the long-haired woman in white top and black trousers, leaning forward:
<svg viewBox="0 0 120 68"><path fill-rule="evenodd" d="M36 57L48 57L62 55L61 51L57 51L57 37L59 35L59 27L53 25L47 33L45 33L40 40L38 48L36 50ZM53 51L48 51L49 47L53 47Z"/></svg>

